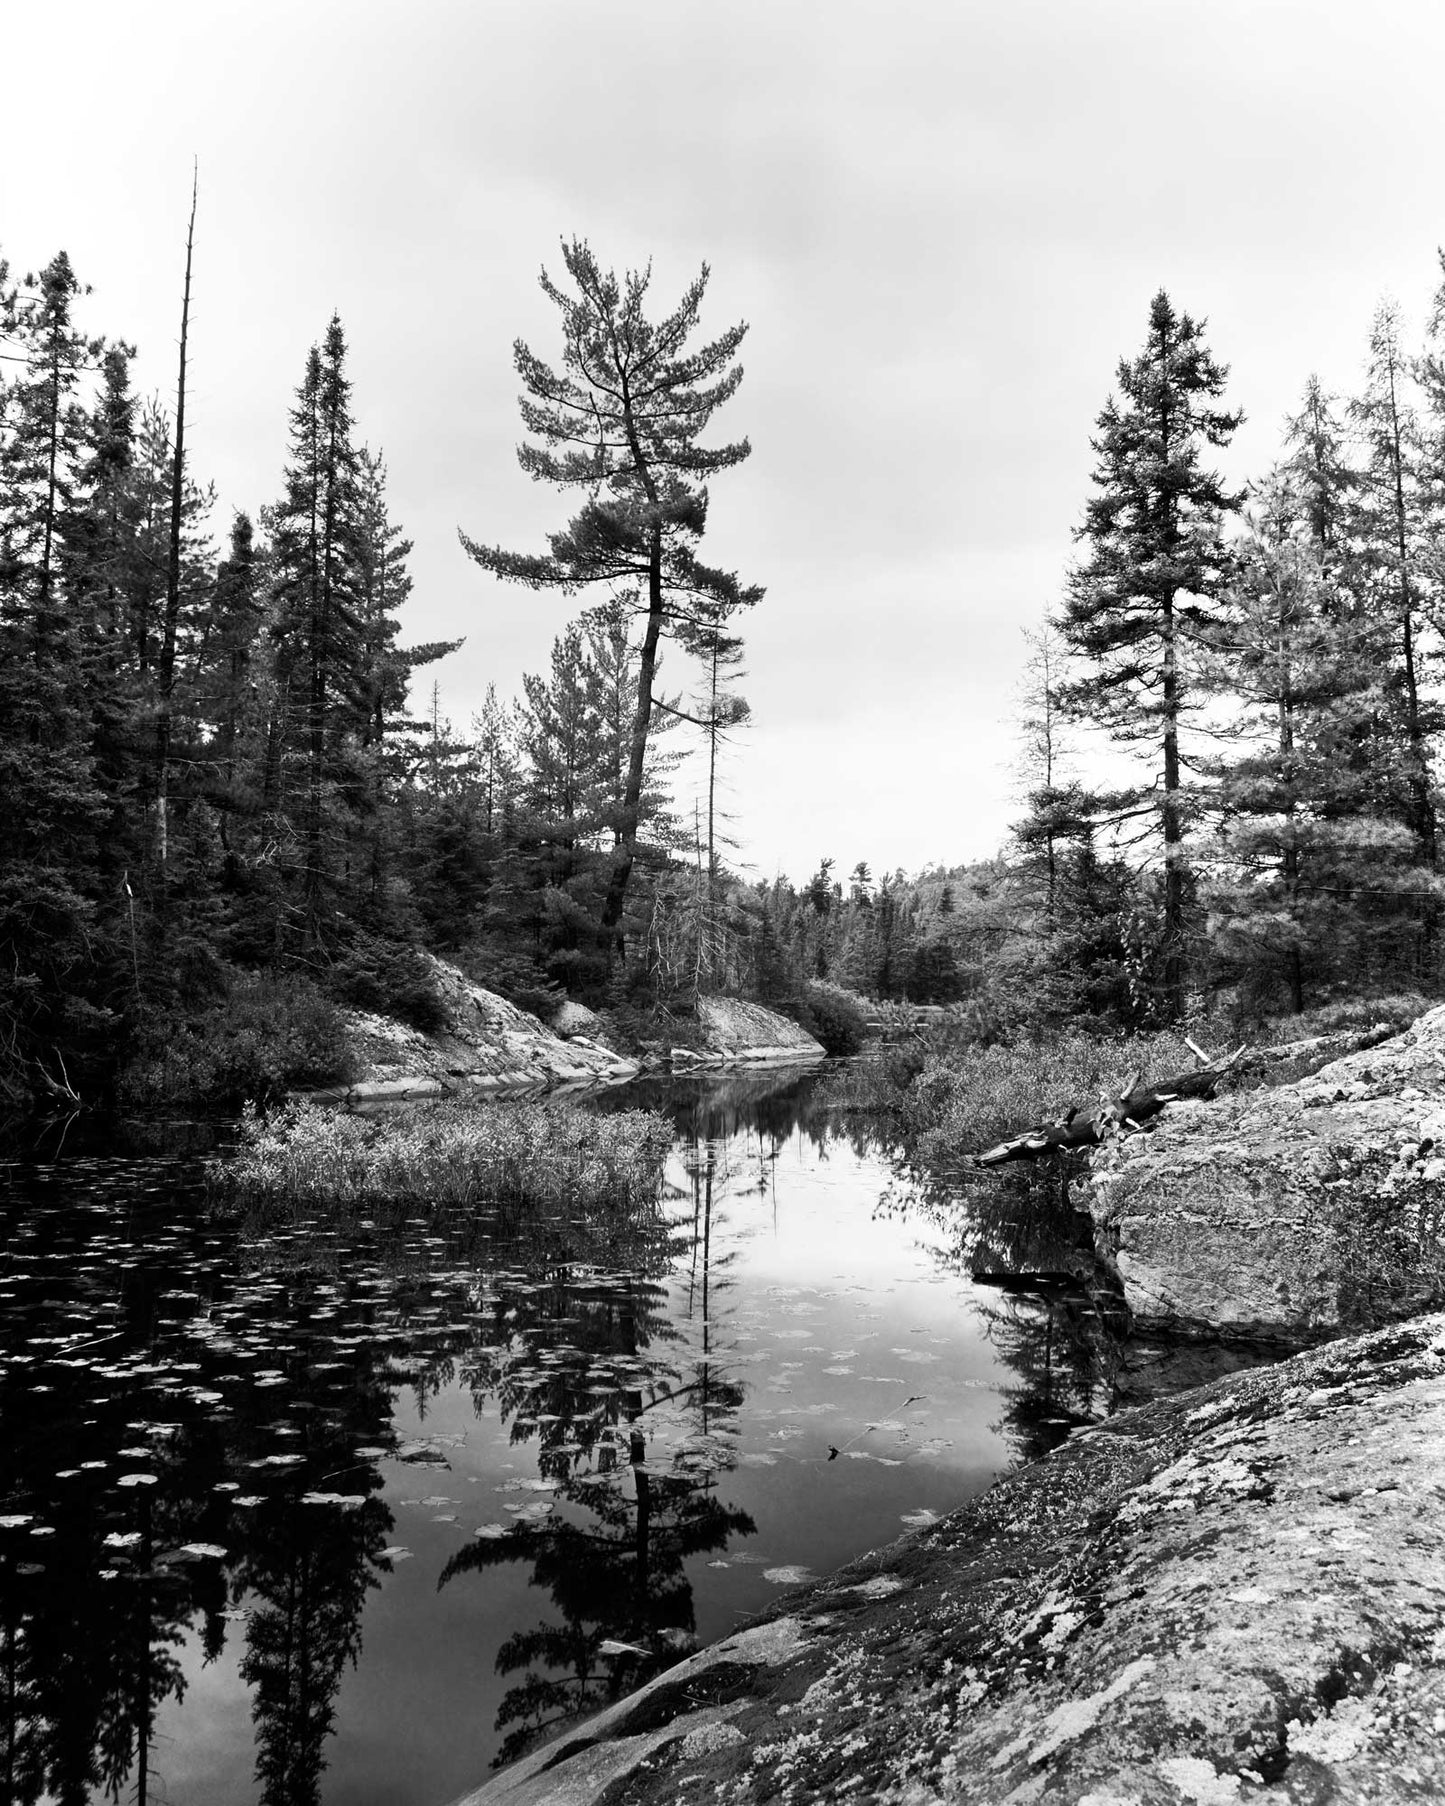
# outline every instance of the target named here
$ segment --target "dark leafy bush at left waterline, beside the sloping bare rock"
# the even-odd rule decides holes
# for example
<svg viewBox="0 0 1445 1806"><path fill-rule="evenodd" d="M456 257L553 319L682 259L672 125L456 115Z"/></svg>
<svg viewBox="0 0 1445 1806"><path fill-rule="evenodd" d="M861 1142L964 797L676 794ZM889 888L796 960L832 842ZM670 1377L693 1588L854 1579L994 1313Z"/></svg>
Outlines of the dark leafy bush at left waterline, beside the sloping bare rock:
<svg viewBox="0 0 1445 1806"><path fill-rule="evenodd" d="M350 1078L336 1004L300 973L237 973L199 1017L154 1017L121 1073L123 1103L226 1109Z"/></svg>

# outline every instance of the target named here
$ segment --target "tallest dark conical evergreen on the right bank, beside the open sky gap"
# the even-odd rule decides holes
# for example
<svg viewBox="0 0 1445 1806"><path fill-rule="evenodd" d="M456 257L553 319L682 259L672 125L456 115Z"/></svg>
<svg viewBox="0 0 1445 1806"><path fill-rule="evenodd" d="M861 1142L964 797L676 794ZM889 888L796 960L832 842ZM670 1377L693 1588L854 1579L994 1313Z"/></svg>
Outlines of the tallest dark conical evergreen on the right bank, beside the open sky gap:
<svg viewBox="0 0 1445 1806"><path fill-rule="evenodd" d="M1230 574L1221 527L1241 506L1205 446L1228 444L1243 419L1216 406L1228 370L1203 341L1203 321L1176 314L1160 291L1149 336L1118 367L1120 394L1098 417L1096 493L1078 540L1057 627L1087 672L1064 697L1078 717L1143 748L1149 777L1120 798L1120 815L1145 818L1163 845L1161 1011L1185 1006L1185 802L1179 730L1190 694L1181 657L1214 614Z"/></svg>

